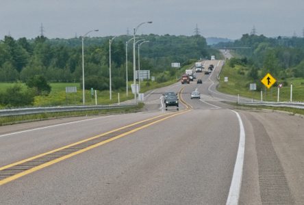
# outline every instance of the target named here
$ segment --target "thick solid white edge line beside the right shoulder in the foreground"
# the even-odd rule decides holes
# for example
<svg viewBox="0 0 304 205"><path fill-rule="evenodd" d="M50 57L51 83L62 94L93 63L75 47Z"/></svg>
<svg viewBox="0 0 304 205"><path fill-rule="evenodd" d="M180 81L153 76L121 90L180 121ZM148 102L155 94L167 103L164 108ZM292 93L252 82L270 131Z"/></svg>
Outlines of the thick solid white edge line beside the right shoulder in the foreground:
<svg viewBox="0 0 304 205"><path fill-rule="evenodd" d="M240 197L240 188L242 184L242 172L243 172L244 150L245 150L245 131L244 131L242 118L240 118L240 115L236 111L233 112L236 113L238 117L238 123L240 125L240 141L238 143L238 154L236 156L236 165L234 165L233 176L229 189L229 195L226 202L227 205L238 204L238 200Z"/></svg>

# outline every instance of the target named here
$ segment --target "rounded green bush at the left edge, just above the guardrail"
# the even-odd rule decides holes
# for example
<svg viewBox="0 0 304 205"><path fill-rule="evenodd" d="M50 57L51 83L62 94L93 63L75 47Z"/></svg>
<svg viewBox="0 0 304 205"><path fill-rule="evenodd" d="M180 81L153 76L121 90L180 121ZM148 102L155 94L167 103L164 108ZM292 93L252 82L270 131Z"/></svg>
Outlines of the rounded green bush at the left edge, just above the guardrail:
<svg viewBox="0 0 304 205"><path fill-rule="evenodd" d="M12 87L8 87L5 92L0 94L0 103L8 107L33 105L34 96L35 90L28 88L23 90L21 85L14 84Z"/></svg>

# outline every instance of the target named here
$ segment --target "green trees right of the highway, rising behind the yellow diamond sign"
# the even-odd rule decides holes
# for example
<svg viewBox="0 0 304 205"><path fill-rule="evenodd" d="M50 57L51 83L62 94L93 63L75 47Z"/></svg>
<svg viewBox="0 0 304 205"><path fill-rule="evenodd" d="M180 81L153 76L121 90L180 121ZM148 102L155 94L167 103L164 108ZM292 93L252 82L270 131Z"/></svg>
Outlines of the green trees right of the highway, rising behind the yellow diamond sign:
<svg viewBox="0 0 304 205"><path fill-rule="evenodd" d="M251 68L249 76L262 79L267 72L279 79L304 78L304 38L267 38L264 35L244 34L235 42L220 43L221 47L248 46L237 49L242 59L231 59L230 64L244 64Z"/></svg>

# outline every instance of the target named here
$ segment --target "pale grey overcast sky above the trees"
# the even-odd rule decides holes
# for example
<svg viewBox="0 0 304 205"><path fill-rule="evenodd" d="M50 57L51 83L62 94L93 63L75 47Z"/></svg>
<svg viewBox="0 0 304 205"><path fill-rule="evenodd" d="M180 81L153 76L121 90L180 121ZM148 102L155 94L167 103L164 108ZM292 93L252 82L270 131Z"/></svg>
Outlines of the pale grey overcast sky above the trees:
<svg viewBox="0 0 304 205"><path fill-rule="evenodd" d="M303 36L304 0L0 0L0 39L138 34L238 39L253 26L264 36ZM90 33L91 34L91 33Z"/></svg>

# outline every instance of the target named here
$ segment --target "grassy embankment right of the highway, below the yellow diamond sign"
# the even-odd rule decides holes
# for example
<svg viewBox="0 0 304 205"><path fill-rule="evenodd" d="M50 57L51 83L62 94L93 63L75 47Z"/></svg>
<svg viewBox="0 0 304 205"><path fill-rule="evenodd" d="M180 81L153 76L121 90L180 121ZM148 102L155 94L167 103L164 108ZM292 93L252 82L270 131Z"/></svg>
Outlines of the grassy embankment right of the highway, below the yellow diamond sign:
<svg viewBox="0 0 304 205"><path fill-rule="evenodd" d="M235 68L229 67L228 64L225 64L221 73L220 73L220 84L218 85L218 91L244 96L246 98L253 98L255 101L261 100L261 90L250 91L249 84L257 83L257 87L262 87L263 91L263 100L277 102L277 87L270 87L270 89L265 88L260 81L253 82L249 77L247 77L249 68L244 66L236 65ZM224 77L228 77L228 82L224 81ZM277 79L280 83L280 80ZM283 86L279 92L279 101L289 101L290 100L290 85L292 83L292 101L301 101L304 102L304 79L286 79L284 80L288 83L288 86ZM252 106L250 106L252 107ZM282 108L282 107L262 107L257 106L257 108L267 108L267 109L278 109L283 111L289 111L292 113L304 114L303 109L293 109L293 108Z"/></svg>

